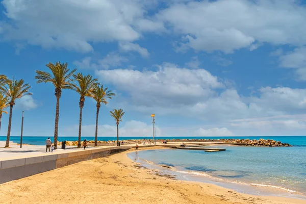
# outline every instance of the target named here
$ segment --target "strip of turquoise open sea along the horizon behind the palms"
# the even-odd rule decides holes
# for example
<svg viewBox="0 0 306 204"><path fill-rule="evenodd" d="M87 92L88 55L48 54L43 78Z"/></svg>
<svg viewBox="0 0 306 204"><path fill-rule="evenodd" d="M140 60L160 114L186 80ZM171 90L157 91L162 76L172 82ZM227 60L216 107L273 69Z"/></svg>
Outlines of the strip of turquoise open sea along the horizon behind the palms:
<svg viewBox="0 0 306 204"><path fill-rule="evenodd" d="M37 136L23 136L22 137L22 143L24 144L34 144L34 145L45 145L45 140L50 136L44 136L44 137L37 137ZM87 140L94 140L94 137L82 137L81 140L84 139ZM152 137L145 137L146 139L152 139ZM221 139L226 137L157 137L157 139ZM276 141L282 141L285 143L289 143L292 145L304 145L306 146L306 137L305 136L244 136L244 137L228 137L228 138L235 138L235 139L273 139ZM54 141L54 137L50 137L52 141ZM143 139L143 137L119 137L119 139L128 140L128 139ZM10 140L13 142L20 142L20 136L11 136ZM78 137L59 137L58 141L77 141ZM98 137L98 140L101 141L108 141L108 140L117 140L117 136L114 137ZM6 136L0 136L0 141L6 141Z"/></svg>

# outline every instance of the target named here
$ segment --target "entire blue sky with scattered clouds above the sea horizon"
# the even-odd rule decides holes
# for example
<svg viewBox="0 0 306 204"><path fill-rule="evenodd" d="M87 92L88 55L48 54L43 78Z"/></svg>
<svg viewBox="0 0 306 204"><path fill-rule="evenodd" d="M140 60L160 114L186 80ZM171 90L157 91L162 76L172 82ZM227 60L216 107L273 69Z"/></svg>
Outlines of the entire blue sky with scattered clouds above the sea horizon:
<svg viewBox="0 0 306 204"><path fill-rule="evenodd" d="M35 70L52 62L92 74L116 96L103 105L98 136L305 135L306 1L2 0L0 74L24 79L11 135L53 136L52 84ZM78 93L63 90L59 136L77 136ZM86 98L82 136L94 136ZM0 135L7 134L8 115Z"/></svg>

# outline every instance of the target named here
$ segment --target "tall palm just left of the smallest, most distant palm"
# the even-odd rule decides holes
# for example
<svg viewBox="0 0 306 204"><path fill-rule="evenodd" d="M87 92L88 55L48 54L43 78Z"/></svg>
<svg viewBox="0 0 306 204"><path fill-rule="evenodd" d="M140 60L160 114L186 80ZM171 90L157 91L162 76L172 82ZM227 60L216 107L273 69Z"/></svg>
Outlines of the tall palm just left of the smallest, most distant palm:
<svg viewBox="0 0 306 204"><path fill-rule="evenodd" d="M95 138L94 138L94 146L97 146L97 137L98 137L98 115L101 107L101 103L108 104L107 99L112 99L112 96L116 95L111 90L108 90L106 87L103 88L103 84L101 86L95 85L91 91L91 97L96 101L97 105L97 113L96 113L96 130L95 130Z"/></svg>

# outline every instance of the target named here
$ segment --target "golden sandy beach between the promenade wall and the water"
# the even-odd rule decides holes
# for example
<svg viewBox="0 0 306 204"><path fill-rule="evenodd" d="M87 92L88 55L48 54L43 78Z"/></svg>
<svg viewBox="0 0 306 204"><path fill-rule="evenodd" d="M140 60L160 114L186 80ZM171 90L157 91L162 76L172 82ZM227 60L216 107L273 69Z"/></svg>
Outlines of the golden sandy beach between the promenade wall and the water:
<svg viewBox="0 0 306 204"><path fill-rule="evenodd" d="M140 167L127 157L131 151L1 184L1 203L306 203L174 180Z"/></svg>

